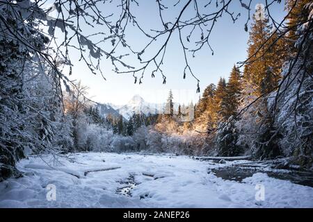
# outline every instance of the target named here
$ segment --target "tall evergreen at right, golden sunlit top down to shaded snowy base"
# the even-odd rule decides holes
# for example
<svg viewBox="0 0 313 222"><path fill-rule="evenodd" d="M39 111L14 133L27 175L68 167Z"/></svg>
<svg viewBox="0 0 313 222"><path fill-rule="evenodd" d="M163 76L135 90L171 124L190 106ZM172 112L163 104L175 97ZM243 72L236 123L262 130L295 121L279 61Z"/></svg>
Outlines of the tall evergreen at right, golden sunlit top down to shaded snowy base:
<svg viewBox="0 0 313 222"><path fill-rule="evenodd" d="M268 111L268 95L278 86L282 64L286 59L286 46L282 39L277 39L277 33L272 33L268 18L256 19L254 16L253 19L248 41L248 62L243 72L243 84L251 89L243 90L242 96L254 103L245 104L250 106L250 110L246 110L251 113L246 115L250 119L242 119L241 122L249 124L244 127L247 130L256 130L253 133L257 136L251 133L248 136L248 144L252 144L250 148L256 157L268 158L280 154L278 146L273 144L279 134L273 133L275 127L272 114Z"/></svg>

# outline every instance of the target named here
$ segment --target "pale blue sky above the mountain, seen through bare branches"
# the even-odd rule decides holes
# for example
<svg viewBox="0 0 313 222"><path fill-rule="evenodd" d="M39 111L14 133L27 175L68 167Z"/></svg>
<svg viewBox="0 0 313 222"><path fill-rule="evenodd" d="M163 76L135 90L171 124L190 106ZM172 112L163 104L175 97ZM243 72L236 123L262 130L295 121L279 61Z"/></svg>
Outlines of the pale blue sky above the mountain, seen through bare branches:
<svg viewBox="0 0 313 222"><path fill-rule="evenodd" d="M158 11L155 1L139 0L138 2L140 6L135 8L135 12L143 28L149 30L149 28L159 27L159 17L156 14ZM174 4L177 1L169 2ZM262 0L252 1L253 12L255 11L255 5L262 2ZM215 1L212 3L212 6L214 5ZM280 5L276 4L276 6L271 8L271 14L275 18L281 19L284 15L283 8L283 2ZM210 44L214 49L214 56L211 55L211 51L208 48L202 49L202 51L196 54L195 58L189 56L193 73L200 79L201 93L209 83L216 84L220 76L228 78L233 65L246 58L248 33L243 28L246 22L246 12L241 8L239 1L234 1L232 9L235 12L241 12L241 17L239 17L235 24L233 24L228 15L224 15L218 19L214 31L210 36ZM104 8L102 12L110 14L112 10L115 10L115 8ZM178 11L174 11L169 16L176 17L177 13ZM188 10L186 16L191 16L190 13L191 10ZM89 29L90 33L100 31L93 30L92 28ZM129 30L127 33L127 42L134 45L135 49L140 51L145 39L136 31ZM152 47L150 51L153 52L153 49L156 50L157 47ZM86 66L82 62L77 61L76 55L73 58L74 67L70 79L81 80L83 85L90 87L89 96L94 101L100 103L125 104L134 94L140 94L146 101L159 103L166 101L170 89L174 92L175 101L179 103L188 103L191 100L195 102L200 96L200 94L195 93L197 81L189 75L186 76L186 79L182 78L184 57L177 33L171 37L163 64L163 71L167 76L166 85L162 84L162 78L159 74L157 74L156 78L151 78L151 71L147 72L143 79L143 84L138 85L137 83L135 85L134 78L131 74L116 74L112 71L111 61L102 59L101 65L106 78L104 80L102 76L90 74ZM134 58L125 58L125 62L129 63L129 65L136 65L137 63Z"/></svg>

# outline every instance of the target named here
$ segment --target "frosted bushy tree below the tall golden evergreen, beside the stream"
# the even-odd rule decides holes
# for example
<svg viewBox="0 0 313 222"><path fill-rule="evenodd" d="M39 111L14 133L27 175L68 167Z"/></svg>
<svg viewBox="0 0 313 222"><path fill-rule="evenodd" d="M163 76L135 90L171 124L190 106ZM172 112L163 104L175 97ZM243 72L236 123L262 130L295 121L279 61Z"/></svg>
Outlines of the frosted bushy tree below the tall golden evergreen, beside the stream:
<svg viewBox="0 0 313 222"><path fill-rule="evenodd" d="M249 83L247 83L249 84ZM277 137L273 136L275 128L271 126L271 110L268 109L267 98L257 98L252 94L252 90L245 88L241 101L241 115L232 126L236 135L232 135L229 140L236 140L236 153L252 155L257 159L271 159L280 155L280 148L277 146ZM220 132L220 135L227 133ZM275 136L275 135L274 135ZM271 141L270 141L271 140ZM218 141L218 140L217 140ZM219 143L218 146L225 146ZM231 145L232 146L232 145ZM240 151L239 151L240 150Z"/></svg>

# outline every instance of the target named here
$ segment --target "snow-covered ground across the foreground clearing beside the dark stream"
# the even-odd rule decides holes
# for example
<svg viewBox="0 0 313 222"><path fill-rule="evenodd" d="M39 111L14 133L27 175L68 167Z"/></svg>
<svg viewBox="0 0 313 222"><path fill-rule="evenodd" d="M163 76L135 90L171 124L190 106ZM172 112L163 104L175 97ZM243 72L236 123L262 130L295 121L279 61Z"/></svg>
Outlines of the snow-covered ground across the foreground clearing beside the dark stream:
<svg viewBox="0 0 313 222"><path fill-rule="evenodd" d="M18 165L24 177L0 183L0 207L313 207L312 187L266 173L242 182L208 173L227 164L234 162L115 153L30 157ZM264 185L264 201L255 200L257 184ZM56 200L47 200L48 185L56 187Z"/></svg>

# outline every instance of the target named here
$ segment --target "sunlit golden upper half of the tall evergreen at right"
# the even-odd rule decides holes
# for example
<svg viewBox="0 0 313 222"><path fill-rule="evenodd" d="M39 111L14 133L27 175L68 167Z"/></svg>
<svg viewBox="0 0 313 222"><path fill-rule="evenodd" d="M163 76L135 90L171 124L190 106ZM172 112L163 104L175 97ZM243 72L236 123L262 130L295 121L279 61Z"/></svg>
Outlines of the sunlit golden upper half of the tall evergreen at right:
<svg viewBox="0 0 313 222"><path fill-rule="evenodd" d="M282 38L277 40L277 33L272 33L268 18L255 19L253 16L253 21L243 78L253 86L255 96L262 96L273 92L278 85L286 59L286 45Z"/></svg>

